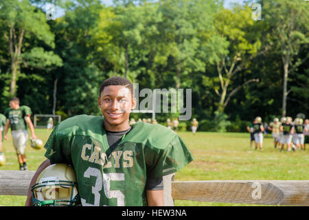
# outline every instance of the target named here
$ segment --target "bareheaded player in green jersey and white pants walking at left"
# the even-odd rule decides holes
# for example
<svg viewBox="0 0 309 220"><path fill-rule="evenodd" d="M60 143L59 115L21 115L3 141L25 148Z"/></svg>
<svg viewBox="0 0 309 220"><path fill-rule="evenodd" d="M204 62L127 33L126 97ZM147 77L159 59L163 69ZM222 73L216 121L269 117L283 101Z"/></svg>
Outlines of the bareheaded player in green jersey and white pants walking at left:
<svg viewBox="0 0 309 220"><path fill-rule="evenodd" d="M19 98L10 99L10 108L5 110L5 123L4 139L8 140L8 129L11 126L13 145L16 151L17 159L19 162L19 170L27 170L27 157L25 155L25 146L28 138L27 126L29 126L31 137L36 140L34 133L34 126L30 119L32 111L30 107L25 105L19 106Z"/></svg>

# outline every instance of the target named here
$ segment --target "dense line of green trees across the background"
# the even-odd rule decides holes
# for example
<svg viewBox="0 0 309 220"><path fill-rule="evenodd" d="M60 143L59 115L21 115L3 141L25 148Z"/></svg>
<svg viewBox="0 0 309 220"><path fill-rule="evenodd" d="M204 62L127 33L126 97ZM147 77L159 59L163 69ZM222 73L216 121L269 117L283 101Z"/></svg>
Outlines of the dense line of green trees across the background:
<svg viewBox="0 0 309 220"><path fill-rule="evenodd" d="M65 14L48 19L48 3ZM245 131L257 115L308 117L308 3L254 1L260 20L253 1L223 3L2 0L0 112L18 96L34 113L99 115L100 83L124 76L140 89L192 89L203 131Z"/></svg>

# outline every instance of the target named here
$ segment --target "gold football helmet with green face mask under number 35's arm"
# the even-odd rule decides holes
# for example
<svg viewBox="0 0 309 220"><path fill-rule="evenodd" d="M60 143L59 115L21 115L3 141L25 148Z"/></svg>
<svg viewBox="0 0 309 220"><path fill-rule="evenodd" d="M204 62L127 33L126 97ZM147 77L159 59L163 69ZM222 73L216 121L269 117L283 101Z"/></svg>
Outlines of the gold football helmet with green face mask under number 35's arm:
<svg viewBox="0 0 309 220"><path fill-rule="evenodd" d="M67 164L47 166L31 188L32 206L78 206L76 173Z"/></svg>

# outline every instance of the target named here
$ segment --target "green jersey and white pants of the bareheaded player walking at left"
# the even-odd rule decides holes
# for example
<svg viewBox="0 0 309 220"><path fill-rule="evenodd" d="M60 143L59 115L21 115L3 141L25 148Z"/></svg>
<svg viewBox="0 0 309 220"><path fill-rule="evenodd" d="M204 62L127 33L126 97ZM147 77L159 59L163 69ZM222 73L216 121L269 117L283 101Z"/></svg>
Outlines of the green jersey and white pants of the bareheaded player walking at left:
<svg viewBox="0 0 309 220"><path fill-rule="evenodd" d="M4 112L5 117L10 120L13 145L15 147L16 153L21 155L25 154L25 146L27 144L28 138L25 116L30 116L31 114L32 111L30 107L25 105L19 107L19 109L8 108Z"/></svg>

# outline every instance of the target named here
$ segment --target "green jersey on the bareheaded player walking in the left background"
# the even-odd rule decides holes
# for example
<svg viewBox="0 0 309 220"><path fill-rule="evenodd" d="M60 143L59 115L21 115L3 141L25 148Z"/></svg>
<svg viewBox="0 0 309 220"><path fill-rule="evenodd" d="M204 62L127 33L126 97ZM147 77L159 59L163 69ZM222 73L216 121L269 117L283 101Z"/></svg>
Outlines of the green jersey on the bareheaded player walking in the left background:
<svg viewBox="0 0 309 220"><path fill-rule="evenodd" d="M25 115L31 115L32 111L30 107L25 105L19 107L19 109L8 108L5 110L4 115L10 120L11 130L27 130L27 123L25 122Z"/></svg>

